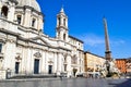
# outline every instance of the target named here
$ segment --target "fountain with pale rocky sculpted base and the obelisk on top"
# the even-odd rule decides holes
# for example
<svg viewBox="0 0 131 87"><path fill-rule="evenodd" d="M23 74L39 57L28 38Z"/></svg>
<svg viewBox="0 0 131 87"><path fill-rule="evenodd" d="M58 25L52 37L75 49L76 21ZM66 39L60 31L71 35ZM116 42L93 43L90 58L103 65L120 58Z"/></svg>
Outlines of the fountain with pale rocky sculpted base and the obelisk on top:
<svg viewBox="0 0 131 87"><path fill-rule="evenodd" d="M111 59L111 51L109 50L109 37L108 37L108 30L107 30L107 21L105 17L103 21L104 21L104 26L105 26L105 44L106 44L106 52L105 52L106 61L104 63L103 71L105 71L106 77L111 77L111 76L114 76L114 74L118 75L119 71L115 64L115 60Z"/></svg>

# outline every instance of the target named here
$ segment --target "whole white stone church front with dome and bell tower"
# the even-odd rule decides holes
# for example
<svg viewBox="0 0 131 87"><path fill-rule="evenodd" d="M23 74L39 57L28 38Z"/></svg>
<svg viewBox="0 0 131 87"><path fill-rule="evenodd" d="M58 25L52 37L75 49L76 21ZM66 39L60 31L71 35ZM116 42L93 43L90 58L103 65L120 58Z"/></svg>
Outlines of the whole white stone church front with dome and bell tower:
<svg viewBox="0 0 131 87"><path fill-rule="evenodd" d="M63 8L55 38L43 33L44 17L36 0L0 0L0 78L8 71L10 76L68 77L84 72L83 41L69 35Z"/></svg>

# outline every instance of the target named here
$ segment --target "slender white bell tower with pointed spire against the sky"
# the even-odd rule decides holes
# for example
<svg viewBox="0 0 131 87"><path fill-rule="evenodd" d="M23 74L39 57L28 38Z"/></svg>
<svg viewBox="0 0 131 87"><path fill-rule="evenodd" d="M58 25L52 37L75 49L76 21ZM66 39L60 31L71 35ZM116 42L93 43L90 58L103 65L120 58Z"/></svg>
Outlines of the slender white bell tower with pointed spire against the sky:
<svg viewBox="0 0 131 87"><path fill-rule="evenodd" d="M68 41L68 16L64 13L63 8L61 8L59 14L57 15L57 34L56 37L59 40Z"/></svg>

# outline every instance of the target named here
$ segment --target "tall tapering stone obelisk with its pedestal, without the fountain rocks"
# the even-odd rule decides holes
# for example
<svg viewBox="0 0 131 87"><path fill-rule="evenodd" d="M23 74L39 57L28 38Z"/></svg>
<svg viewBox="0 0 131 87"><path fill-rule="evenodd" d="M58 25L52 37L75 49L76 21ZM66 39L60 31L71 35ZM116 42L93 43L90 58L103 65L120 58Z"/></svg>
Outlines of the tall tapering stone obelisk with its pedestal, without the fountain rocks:
<svg viewBox="0 0 131 87"><path fill-rule="evenodd" d="M108 37L108 29L107 29L107 21L104 17L104 27L105 27L105 44L106 44L106 51L105 51L105 58L107 61L111 61L111 51L109 50L109 37Z"/></svg>

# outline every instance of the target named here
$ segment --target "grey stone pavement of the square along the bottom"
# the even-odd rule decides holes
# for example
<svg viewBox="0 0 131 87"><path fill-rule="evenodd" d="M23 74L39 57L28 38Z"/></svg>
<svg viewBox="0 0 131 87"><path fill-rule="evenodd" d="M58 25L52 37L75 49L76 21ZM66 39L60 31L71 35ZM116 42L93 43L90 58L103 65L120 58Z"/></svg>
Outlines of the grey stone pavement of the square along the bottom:
<svg viewBox="0 0 131 87"><path fill-rule="evenodd" d="M131 79L112 78L63 78L35 79L35 80L5 80L0 82L0 87L131 87Z"/></svg>

